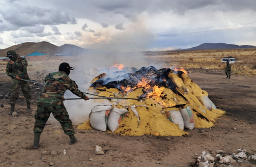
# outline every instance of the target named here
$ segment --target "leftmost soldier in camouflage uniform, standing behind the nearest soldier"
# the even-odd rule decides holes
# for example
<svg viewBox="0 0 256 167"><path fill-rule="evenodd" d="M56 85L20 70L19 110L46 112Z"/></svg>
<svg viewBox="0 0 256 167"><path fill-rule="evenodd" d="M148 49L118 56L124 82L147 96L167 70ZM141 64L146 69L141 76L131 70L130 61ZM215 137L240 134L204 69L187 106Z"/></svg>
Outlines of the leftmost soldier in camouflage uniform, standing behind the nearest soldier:
<svg viewBox="0 0 256 167"><path fill-rule="evenodd" d="M15 101L19 98L19 89L21 87L23 95L26 97L27 101L27 111L30 112L30 86L29 82L22 81L30 80L29 75L27 73L28 61L26 58L20 57L16 54L15 51L10 50L7 52L7 56L10 58L6 66L6 74L12 78L11 82L11 110L8 112L9 115L14 112Z"/></svg>

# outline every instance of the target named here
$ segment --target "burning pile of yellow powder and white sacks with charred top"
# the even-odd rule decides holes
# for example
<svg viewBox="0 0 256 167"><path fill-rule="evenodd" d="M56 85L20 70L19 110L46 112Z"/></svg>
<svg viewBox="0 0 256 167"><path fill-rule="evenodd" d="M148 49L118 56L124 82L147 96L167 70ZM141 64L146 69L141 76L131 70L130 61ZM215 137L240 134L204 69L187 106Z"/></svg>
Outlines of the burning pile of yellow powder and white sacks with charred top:
<svg viewBox="0 0 256 167"><path fill-rule="evenodd" d="M184 128L209 128L224 113L216 109L202 90L185 74L183 68L142 67L102 73L93 79L89 92L106 97L142 100L97 101L86 123L79 129L94 129L141 136L182 136Z"/></svg>

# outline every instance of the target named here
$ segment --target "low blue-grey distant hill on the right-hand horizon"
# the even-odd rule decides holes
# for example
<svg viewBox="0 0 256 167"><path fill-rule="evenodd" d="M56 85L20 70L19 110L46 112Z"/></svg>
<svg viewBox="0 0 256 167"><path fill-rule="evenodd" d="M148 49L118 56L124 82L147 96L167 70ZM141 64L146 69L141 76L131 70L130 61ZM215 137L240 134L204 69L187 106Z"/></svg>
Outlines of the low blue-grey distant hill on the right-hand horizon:
<svg viewBox="0 0 256 167"><path fill-rule="evenodd" d="M204 43L199 46L189 48L186 50L197 50L197 49L242 49L242 48L256 48L252 45L232 45L232 44L225 44L225 43Z"/></svg>

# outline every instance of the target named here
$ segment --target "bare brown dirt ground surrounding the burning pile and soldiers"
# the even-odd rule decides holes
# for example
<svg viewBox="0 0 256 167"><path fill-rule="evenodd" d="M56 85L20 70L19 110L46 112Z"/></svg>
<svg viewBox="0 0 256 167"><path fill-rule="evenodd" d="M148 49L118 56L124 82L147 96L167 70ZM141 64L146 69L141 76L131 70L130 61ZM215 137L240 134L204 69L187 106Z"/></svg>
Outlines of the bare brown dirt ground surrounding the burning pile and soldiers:
<svg viewBox="0 0 256 167"><path fill-rule="evenodd" d="M54 167L189 167L195 153L202 151L215 156L216 150L231 154L238 148L246 148L255 154L256 77L232 75L229 80L223 70L189 71L192 73L188 76L209 93L213 103L227 111L214 127L186 130L189 133L186 137L129 137L76 129L78 142L69 145L69 138L58 122L49 122L41 135L40 147L33 149L33 113L42 89L33 85L32 113L27 113L25 99L19 99L15 106L19 117L10 116L9 99L0 99L4 105L0 108L0 166L47 167L53 162ZM10 83L11 79L0 73L0 94L10 93ZM95 154L96 145L105 150L104 155ZM43 155L43 151L47 153ZM57 155L50 155L51 151ZM158 161L161 164L156 164ZM233 164L233 167L255 166L246 162Z"/></svg>

